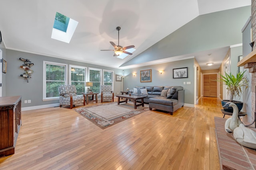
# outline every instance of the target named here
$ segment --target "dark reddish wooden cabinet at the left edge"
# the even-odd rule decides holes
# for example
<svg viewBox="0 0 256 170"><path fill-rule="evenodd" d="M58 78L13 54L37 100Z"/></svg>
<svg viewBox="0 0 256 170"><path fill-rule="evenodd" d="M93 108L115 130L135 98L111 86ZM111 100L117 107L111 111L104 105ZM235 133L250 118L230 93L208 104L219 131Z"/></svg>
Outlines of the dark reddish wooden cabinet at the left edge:
<svg viewBox="0 0 256 170"><path fill-rule="evenodd" d="M14 154L21 126L21 96L0 97L0 156Z"/></svg>

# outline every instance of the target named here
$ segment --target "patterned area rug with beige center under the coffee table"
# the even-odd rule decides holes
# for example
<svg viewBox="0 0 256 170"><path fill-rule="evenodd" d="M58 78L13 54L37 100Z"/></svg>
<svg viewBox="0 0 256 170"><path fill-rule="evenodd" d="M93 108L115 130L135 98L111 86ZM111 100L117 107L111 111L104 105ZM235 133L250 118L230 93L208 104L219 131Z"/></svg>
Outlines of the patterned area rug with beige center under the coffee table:
<svg viewBox="0 0 256 170"><path fill-rule="evenodd" d="M117 102L112 102L96 106L80 107L74 110L95 125L98 125L98 127L105 129L130 117L144 113L149 108L146 104L144 104L144 107L139 106L137 109L134 109L133 103L121 103L117 105Z"/></svg>

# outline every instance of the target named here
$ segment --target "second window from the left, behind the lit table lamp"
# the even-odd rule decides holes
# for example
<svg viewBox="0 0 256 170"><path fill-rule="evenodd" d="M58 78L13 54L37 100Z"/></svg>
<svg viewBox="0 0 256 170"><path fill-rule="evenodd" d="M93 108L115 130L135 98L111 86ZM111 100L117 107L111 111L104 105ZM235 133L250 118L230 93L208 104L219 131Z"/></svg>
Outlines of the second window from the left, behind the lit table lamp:
<svg viewBox="0 0 256 170"><path fill-rule="evenodd" d="M86 67L69 65L69 84L76 86L77 92L86 92Z"/></svg>

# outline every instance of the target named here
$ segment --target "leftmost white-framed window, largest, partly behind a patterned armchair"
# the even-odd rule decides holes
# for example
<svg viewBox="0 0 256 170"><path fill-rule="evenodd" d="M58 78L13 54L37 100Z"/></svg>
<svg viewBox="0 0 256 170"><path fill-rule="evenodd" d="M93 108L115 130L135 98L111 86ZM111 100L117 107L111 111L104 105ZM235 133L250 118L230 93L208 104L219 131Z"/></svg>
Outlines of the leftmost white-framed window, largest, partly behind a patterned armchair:
<svg viewBox="0 0 256 170"><path fill-rule="evenodd" d="M43 100L59 98L58 87L67 84L67 64L44 61Z"/></svg>

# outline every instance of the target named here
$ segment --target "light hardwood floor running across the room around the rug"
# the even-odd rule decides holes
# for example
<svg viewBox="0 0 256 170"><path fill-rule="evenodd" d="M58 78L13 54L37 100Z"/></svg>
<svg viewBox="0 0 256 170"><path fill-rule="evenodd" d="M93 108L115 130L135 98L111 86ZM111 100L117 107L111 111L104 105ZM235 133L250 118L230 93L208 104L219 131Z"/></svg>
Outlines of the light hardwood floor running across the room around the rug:
<svg viewBox="0 0 256 170"><path fill-rule="evenodd" d="M0 169L219 170L220 109L219 99L204 97L173 115L153 109L104 130L73 109L22 111L15 154L0 157Z"/></svg>

